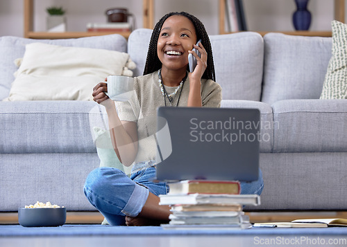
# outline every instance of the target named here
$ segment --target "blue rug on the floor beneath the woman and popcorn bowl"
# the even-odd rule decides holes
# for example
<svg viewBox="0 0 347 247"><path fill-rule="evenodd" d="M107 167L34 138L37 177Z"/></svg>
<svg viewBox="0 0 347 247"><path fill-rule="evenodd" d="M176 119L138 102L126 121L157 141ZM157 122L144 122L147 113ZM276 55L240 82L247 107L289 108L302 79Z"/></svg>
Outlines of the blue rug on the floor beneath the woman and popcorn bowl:
<svg viewBox="0 0 347 247"><path fill-rule="evenodd" d="M25 228L0 225L0 237L28 236L116 236L116 235L347 235L347 228L251 228L235 230L164 230L160 226L64 225L60 227Z"/></svg>

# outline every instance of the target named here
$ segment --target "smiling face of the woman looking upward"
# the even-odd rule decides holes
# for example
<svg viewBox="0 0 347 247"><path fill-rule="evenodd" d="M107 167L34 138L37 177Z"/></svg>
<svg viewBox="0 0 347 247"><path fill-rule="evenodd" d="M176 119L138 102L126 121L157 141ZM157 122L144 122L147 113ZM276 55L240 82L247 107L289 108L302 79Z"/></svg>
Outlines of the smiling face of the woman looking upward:
<svg viewBox="0 0 347 247"><path fill-rule="evenodd" d="M162 67L169 70L186 69L188 51L196 44L192 21L182 15L167 18L160 30L157 53Z"/></svg>

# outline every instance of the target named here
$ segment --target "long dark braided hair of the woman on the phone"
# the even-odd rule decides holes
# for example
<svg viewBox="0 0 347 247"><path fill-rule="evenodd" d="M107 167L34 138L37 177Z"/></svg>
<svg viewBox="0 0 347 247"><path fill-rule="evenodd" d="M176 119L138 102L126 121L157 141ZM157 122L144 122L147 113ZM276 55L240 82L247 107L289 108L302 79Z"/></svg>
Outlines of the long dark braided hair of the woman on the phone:
<svg viewBox="0 0 347 247"><path fill-rule="evenodd" d="M194 17L194 15L190 15L187 12L170 12L169 14L164 15L164 17L162 17L162 19L160 19L158 23L155 25L155 28L151 36L151 41L149 42L149 51L147 53L146 65L144 66L144 75L153 73L154 71L158 71L162 67L162 62L160 62L157 53L158 39L160 35L160 30L162 29L162 24L164 24L164 21L166 21L167 18L173 15L182 15L184 17L187 17L190 21L192 21L192 24L194 25L196 32L196 38L197 40L201 39L201 43L203 44L203 47L208 53L208 66L205 72L203 73L202 78L216 81L212 56L212 47L210 43L210 38L208 37L208 33L206 32L205 26L203 26L202 22L198 18Z"/></svg>

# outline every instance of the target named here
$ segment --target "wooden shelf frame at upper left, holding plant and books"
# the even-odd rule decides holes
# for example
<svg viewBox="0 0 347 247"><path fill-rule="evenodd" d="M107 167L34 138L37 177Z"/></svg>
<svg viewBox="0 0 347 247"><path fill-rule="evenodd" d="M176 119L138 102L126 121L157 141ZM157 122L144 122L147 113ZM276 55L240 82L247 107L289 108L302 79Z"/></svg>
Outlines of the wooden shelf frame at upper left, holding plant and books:
<svg viewBox="0 0 347 247"><path fill-rule="evenodd" d="M34 0L24 0L24 37L31 39L68 39L78 37L90 37L99 35L110 35L115 32L65 32L65 33L48 33L35 32L33 30L34 17ZM142 0L144 28L149 28L149 24L153 23L153 1ZM117 32L128 38L130 32Z"/></svg>

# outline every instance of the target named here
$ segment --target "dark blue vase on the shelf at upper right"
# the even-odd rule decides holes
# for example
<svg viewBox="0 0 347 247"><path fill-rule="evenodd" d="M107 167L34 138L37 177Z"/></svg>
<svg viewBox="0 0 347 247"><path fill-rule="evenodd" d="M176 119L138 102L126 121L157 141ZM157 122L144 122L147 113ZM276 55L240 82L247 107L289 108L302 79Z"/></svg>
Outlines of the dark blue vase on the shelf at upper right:
<svg viewBox="0 0 347 247"><path fill-rule="evenodd" d="M293 14L293 24L295 30L308 30L311 25L311 12L307 10L309 0L294 0L296 11Z"/></svg>

